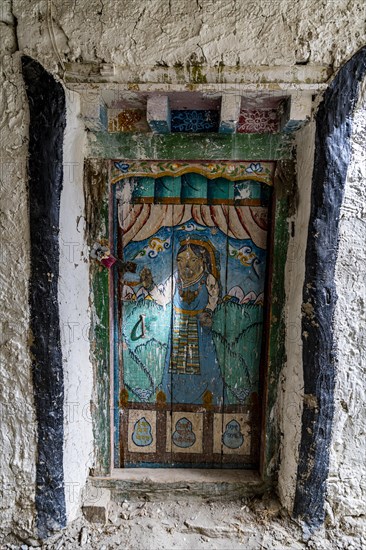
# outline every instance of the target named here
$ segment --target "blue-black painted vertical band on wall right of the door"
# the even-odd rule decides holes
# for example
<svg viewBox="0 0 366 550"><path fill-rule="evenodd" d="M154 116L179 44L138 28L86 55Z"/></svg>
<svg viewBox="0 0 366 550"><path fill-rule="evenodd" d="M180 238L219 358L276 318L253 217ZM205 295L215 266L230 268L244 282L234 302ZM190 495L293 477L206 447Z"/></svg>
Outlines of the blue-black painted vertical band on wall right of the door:
<svg viewBox="0 0 366 550"><path fill-rule="evenodd" d="M317 117L303 290L304 409L293 514L310 531L324 521L336 376L333 315L338 224L350 161L352 116L366 75L366 47L327 89Z"/></svg>

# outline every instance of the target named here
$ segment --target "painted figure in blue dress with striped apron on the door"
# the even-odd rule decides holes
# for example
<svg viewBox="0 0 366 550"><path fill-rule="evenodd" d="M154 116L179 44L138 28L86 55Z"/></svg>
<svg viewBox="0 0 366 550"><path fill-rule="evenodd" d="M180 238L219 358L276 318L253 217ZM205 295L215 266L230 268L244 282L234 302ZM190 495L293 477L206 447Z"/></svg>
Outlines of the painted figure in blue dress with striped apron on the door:
<svg viewBox="0 0 366 550"><path fill-rule="evenodd" d="M141 271L149 296L161 306L173 305L162 389L168 401L202 403L209 391L219 404L224 383L211 332L220 293L213 247L204 241L182 241L176 263L176 272L164 285L154 283L148 268Z"/></svg>

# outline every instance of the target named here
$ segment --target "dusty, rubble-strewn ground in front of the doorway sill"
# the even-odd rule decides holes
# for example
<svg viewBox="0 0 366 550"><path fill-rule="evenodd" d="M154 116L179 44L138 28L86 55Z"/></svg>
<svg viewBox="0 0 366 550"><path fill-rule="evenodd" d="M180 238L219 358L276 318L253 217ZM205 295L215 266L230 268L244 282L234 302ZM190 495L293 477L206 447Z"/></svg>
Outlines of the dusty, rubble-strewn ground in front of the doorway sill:
<svg viewBox="0 0 366 550"><path fill-rule="evenodd" d="M113 504L106 525L76 520L42 550L335 550L366 549L366 531L350 523L306 538L273 498L237 502L123 502ZM5 544L2 548L27 550ZM30 548L30 547L29 547Z"/></svg>

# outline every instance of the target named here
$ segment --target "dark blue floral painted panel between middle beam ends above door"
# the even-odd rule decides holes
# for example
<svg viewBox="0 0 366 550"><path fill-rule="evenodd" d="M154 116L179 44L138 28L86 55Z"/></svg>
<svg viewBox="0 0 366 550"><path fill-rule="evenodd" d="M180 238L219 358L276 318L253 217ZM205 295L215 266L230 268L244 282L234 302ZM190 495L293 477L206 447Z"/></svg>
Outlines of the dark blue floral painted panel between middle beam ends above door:
<svg viewBox="0 0 366 550"><path fill-rule="evenodd" d="M219 128L218 111L172 111L172 132L217 132Z"/></svg>

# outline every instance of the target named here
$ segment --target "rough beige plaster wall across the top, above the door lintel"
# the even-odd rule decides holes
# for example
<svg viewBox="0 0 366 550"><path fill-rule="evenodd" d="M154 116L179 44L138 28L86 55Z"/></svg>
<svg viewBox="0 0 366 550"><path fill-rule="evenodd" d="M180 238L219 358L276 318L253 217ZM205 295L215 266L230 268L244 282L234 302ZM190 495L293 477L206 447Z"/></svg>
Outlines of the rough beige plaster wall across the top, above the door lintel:
<svg viewBox="0 0 366 550"><path fill-rule="evenodd" d="M54 34L64 61L129 67L186 63L324 64L339 67L363 45L362 0L63 0L53 3ZM19 45L48 67L45 1L15 0Z"/></svg>

